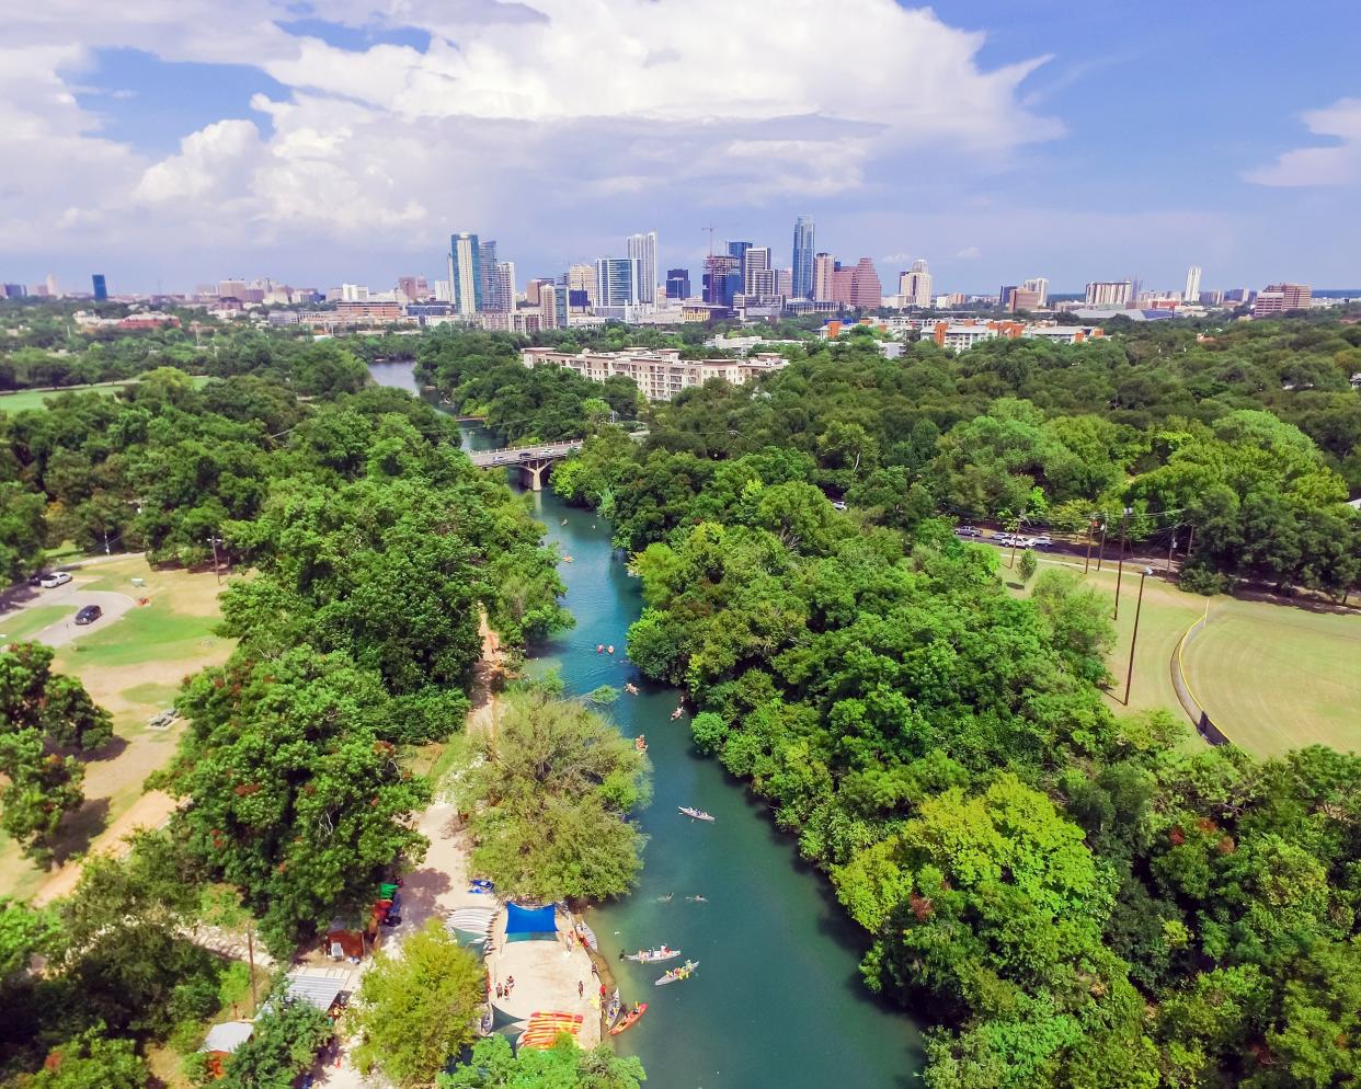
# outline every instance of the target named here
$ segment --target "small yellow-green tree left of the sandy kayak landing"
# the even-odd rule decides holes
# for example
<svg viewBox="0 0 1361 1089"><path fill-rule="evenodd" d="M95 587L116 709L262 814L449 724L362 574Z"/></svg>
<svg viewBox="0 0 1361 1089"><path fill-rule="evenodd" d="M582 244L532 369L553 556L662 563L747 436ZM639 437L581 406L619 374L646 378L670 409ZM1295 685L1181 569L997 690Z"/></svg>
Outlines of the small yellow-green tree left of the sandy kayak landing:
<svg viewBox="0 0 1361 1089"><path fill-rule="evenodd" d="M347 1013L355 1066L399 1086L429 1085L476 1039L485 999L482 962L431 919L400 956L380 952L365 972Z"/></svg>

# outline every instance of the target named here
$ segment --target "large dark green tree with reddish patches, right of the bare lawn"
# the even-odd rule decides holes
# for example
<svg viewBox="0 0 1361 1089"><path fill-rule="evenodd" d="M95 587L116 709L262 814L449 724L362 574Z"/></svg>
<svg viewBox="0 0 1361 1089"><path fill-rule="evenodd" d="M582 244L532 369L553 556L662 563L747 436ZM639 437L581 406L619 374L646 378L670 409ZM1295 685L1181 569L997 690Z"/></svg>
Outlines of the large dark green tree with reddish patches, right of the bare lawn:
<svg viewBox="0 0 1361 1089"><path fill-rule="evenodd" d="M395 711L377 674L306 645L261 662L238 651L178 705L189 732L171 785L191 804L177 821L276 953L421 858L410 818L430 790L382 736Z"/></svg>

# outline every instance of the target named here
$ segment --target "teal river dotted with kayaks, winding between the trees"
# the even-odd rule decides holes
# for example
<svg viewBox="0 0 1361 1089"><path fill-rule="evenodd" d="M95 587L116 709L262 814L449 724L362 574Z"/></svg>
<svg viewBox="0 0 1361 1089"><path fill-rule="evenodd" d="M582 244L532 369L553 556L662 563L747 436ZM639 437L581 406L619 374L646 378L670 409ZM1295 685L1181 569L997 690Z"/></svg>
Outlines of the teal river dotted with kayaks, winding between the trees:
<svg viewBox="0 0 1361 1089"><path fill-rule="evenodd" d="M410 363L380 363L373 374L416 392ZM494 445L480 427L463 432L468 449ZM860 981L863 934L765 806L717 761L694 751L689 715L671 721L679 693L645 682L626 660L625 640L642 599L623 557L610 547L608 525L551 490L532 502L548 540L572 557L558 569L577 626L538 648L531 667L558 671L573 694L638 685L641 694L621 694L607 713L627 736L646 735L653 764L652 806L637 818L651 837L638 889L588 913L625 1001L648 1003L646 1015L615 1037L618 1051L642 1059L648 1089L916 1085L920 1035ZM615 653L596 653L602 643L614 644ZM678 806L717 819L693 822ZM686 900L697 894L708 903ZM691 979L655 987L661 968L618 960L621 950L661 942L700 961Z"/></svg>

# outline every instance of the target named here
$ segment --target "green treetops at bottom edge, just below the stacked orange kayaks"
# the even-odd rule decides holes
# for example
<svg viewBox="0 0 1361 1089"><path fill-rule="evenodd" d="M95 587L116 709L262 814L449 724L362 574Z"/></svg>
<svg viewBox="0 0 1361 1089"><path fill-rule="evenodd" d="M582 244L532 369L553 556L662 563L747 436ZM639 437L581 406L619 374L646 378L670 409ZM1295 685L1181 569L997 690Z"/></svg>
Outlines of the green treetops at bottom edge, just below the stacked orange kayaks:
<svg viewBox="0 0 1361 1089"><path fill-rule="evenodd" d="M615 1055L608 1044L583 1051L563 1037L547 1050L524 1048L519 1055L504 1036L472 1045L468 1063L441 1074L438 1089L640 1089L646 1081L634 1056Z"/></svg>

